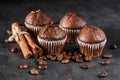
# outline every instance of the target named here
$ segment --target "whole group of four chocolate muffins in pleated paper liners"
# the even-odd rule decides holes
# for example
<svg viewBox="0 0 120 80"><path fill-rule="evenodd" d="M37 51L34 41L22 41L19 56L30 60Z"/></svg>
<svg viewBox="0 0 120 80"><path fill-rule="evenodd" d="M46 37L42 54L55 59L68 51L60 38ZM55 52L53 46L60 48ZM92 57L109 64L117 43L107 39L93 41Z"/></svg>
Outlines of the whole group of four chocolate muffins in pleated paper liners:
<svg viewBox="0 0 120 80"><path fill-rule="evenodd" d="M106 44L105 33L98 27L87 25L85 20L73 13L65 14L59 25L41 10L31 11L25 25L48 53L56 55L66 43L78 44L84 56L99 57Z"/></svg>

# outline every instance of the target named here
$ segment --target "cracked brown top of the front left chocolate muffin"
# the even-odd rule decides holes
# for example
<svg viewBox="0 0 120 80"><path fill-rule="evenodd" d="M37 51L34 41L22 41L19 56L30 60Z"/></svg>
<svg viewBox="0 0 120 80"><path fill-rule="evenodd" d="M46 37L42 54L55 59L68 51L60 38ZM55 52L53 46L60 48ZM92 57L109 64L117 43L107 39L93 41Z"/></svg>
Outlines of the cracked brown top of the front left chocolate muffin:
<svg viewBox="0 0 120 80"><path fill-rule="evenodd" d="M62 40L66 37L66 33L56 24L49 24L41 28L38 37L48 41Z"/></svg>

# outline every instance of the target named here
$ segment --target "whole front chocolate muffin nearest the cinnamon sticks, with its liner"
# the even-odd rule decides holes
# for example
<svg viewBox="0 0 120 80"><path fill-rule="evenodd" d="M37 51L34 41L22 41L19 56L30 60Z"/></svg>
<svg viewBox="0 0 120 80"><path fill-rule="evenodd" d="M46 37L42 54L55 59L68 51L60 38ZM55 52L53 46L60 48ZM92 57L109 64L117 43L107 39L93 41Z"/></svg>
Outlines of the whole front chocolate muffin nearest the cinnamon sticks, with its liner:
<svg viewBox="0 0 120 80"><path fill-rule="evenodd" d="M56 24L41 28L37 36L40 45L51 54L60 53L67 40L67 34Z"/></svg>

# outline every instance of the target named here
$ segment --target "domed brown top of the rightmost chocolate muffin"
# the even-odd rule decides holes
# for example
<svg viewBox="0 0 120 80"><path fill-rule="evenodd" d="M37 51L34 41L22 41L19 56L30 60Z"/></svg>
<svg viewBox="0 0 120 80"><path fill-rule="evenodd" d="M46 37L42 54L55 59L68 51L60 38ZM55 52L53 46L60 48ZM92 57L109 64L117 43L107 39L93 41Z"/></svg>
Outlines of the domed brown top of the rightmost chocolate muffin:
<svg viewBox="0 0 120 80"><path fill-rule="evenodd" d="M85 26L80 30L78 39L82 42L94 44L106 39L105 33L96 26Z"/></svg>

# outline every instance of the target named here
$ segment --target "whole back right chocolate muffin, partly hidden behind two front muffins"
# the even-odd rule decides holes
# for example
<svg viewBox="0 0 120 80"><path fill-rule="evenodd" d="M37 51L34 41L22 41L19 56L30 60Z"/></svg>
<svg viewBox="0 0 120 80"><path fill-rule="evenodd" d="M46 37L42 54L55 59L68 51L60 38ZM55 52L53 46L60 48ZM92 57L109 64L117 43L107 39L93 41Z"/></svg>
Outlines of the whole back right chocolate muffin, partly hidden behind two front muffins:
<svg viewBox="0 0 120 80"><path fill-rule="evenodd" d="M67 42L74 43L80 29L85 25L86 22L82 18L69 12L61 18L59 27L67 33Z"/></svg>

